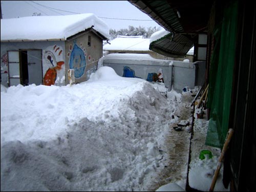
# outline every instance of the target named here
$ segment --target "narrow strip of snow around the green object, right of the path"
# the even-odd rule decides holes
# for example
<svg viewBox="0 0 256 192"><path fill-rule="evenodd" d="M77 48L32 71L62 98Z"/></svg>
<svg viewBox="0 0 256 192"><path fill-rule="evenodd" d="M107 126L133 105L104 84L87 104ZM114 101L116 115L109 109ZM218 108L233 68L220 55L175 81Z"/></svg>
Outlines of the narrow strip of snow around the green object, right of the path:
<svg viewBox="0 0 256 192"><path fill-rule="evenodd" d="M221 155L220 148L211 147L205 145L207 127L209 121L207 120L207 110L204 110L204 116L202 119L198 119L196 113L201 109L195 109L194 117L194 136L191 139L191 161L189 163L188 183L191 188L209 191L214 172L217 168L218 159ZM199 158L200 152L203 150L210 151L212 158L208 155L204 155L205 159ZM214 191L229 191L229 187L226 189L222 182L223 179L223 166L220 169L220 173L214 188Z"/></svg>

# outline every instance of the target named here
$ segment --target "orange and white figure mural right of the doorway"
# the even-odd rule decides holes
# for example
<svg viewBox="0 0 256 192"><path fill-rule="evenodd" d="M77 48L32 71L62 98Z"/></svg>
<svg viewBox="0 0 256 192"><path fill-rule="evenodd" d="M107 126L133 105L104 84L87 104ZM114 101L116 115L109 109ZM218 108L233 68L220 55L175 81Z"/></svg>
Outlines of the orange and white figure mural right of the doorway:
<svg viewBox="0 0 256 192"><path fill-rule="evenodd" d="M44 85L51 86L55 83L62 84L65 81L65 64L63 59L63 49L57 45L46 48L43 52Z"/></svg>

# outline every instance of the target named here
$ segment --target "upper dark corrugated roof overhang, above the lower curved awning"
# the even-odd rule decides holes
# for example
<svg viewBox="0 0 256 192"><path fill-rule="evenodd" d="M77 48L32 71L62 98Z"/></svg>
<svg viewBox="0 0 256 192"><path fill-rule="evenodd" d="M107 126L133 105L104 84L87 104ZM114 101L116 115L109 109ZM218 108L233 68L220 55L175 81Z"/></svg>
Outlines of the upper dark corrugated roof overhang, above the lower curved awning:
<svg viewBox="0 0 256 192"><path fill-rule="evenodd" d="M129 1L173 33L200 33L207 27L213 0Z"/></svg>

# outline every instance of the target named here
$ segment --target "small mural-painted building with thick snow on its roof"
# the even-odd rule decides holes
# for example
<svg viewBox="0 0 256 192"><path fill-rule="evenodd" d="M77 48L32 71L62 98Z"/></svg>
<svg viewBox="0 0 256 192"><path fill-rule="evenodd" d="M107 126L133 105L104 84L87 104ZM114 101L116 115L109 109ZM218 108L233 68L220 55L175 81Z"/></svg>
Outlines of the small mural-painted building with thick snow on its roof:
<svg viewBox="0 0 256 192"><path fill-rule="evenodd" d="M89 79L109 27L92 13L1 19L1 84L66 85Z"/></svg>

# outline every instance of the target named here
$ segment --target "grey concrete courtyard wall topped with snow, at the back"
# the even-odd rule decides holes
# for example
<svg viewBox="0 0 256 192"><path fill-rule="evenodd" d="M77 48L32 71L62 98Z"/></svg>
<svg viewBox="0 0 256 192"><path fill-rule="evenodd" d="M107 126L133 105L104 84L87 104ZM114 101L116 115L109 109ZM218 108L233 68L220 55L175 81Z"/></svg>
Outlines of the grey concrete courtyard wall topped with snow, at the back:
<svg viewBox="0 0 256 192"><path fill-rule="evenodd" d="M164 84L168 91L182 92L184 87L194 89L204 83L205 62L183 62L154 59L146 54L110 54L102 58L103 66L112 67L119 76L129 70L134 77L148 79L152 73L159 74L162 69ZM200 76L199 76L200 75ZM203 82L202 82L203 81Z"/></svg>

